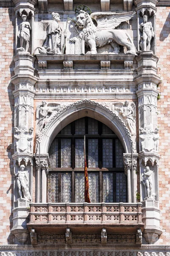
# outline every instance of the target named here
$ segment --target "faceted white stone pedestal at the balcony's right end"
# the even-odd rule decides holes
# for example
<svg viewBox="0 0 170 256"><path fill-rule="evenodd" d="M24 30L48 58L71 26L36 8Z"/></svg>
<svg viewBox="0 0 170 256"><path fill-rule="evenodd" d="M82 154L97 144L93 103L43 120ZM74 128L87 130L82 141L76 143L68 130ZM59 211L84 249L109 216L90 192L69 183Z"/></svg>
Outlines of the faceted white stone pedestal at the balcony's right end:
<svg viewBox="0 0 170 256"><path fill-rule="evenodd" d="M144 223L144 238L149 244L158 240L162 233L160 229L160 209L158 202L153 198L147 198L142 202L142 222Z"/></svg>

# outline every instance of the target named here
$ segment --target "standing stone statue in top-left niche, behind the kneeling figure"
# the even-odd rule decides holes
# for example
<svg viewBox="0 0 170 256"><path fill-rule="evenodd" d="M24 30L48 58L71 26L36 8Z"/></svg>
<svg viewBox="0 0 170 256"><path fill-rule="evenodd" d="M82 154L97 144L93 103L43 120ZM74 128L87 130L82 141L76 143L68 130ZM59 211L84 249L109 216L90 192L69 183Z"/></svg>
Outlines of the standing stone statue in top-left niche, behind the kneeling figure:
<svg viewBox="0 0 170 256"><path fill-rule="evenodd" d="M26 18L27 18L26 15L23 14L21 17L23 18L23 22L20 23L18 37L20 38L20 47L25 48L25 51L28 52L31 26L30 26L30 23L26 21ZM24 47L24 43L25 43L25 47Z"/></svg>

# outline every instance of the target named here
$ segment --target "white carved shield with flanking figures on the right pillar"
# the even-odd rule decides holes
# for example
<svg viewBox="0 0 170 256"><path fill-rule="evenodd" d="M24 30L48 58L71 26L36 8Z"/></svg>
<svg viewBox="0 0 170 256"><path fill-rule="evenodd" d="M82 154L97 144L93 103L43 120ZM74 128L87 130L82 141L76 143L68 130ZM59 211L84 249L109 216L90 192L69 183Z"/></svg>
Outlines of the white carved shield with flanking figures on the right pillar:
<svg viewBox="0 0 170 256"><path fill-rule="evenodd" d="M151 125L147 125L144 129L139 129L139 152L158 152L159 150L159 129L155 128L153 131Z"/></svg>

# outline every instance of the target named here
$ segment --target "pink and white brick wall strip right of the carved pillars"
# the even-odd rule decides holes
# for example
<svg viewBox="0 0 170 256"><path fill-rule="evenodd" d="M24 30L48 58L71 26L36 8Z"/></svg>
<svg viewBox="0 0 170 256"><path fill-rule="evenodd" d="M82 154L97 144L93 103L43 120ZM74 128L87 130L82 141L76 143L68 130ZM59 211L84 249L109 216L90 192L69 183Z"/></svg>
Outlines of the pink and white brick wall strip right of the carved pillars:
<svg viewBox="0 0 170 256"><path fill-rule="evenodd" d="M156 12L157 56L162 83L158 87L159 128L159 203L163 234L159 243L170 244L170 7L159 7Z"/></svg>

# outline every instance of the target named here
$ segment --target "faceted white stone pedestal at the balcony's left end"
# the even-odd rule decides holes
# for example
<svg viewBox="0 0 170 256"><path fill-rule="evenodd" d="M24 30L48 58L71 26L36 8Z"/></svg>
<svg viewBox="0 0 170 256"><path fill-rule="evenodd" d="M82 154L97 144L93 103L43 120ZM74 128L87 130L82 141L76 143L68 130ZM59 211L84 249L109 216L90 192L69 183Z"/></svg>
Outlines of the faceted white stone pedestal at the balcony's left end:
<svg viewBox="0 0 170 256"><path fill-rule="evenodd" d="M29 222L29 207L30 201L27 199L17 199L14 202L13 212L13 227L11 233L16 238L16 243L25 244L29 238L29 231L27 229L27 223Z"/></svg>

